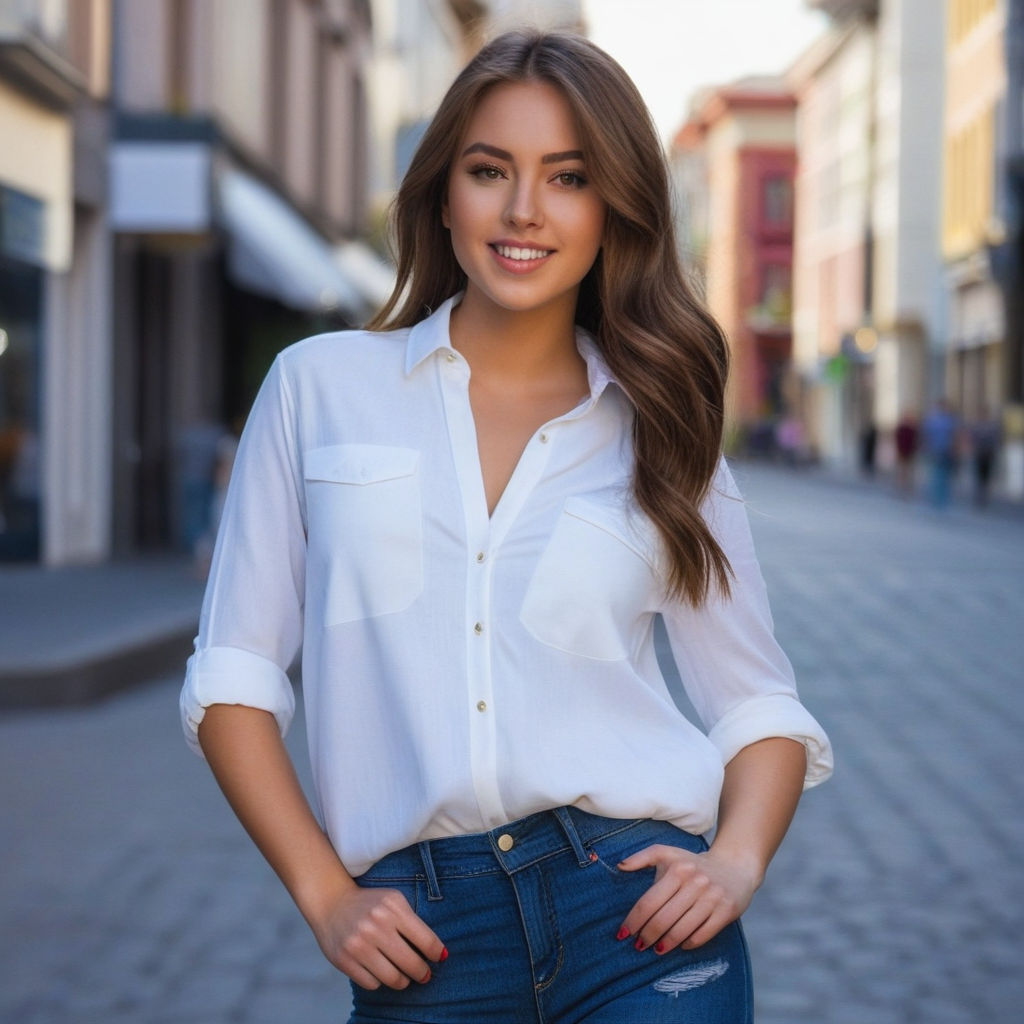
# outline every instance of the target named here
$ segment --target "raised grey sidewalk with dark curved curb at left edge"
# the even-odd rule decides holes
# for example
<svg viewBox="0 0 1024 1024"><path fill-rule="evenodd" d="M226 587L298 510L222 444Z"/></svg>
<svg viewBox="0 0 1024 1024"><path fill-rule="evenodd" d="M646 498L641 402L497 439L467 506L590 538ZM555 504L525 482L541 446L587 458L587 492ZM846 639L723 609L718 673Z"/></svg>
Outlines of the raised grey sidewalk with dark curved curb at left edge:
<svg viewBox="0 0 1024 1024"><path fill-rule="evenodd" d="M183 671L203 588L182 558L0 566L0 709L80 703Z"/></svg>

